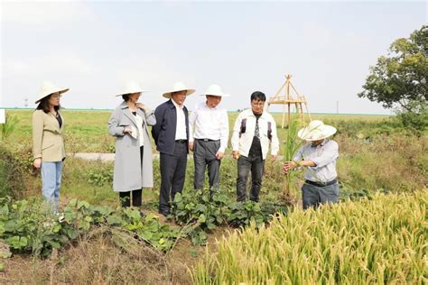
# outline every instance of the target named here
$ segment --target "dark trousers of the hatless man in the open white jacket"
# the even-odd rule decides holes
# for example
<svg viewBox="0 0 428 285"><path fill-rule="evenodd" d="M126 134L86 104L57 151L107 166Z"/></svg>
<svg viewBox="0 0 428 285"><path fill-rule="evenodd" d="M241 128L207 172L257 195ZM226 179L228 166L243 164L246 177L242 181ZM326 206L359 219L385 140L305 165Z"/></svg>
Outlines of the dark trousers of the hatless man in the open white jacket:
<svg viewBox="0 0 428 285"><path fill-rule="evenodd" d="M237 201L245 202L247 199L247 179L251 171L250 200L258 202L262 176L265 170L265 161L261 155L239 156L237 159Z"/></svg>

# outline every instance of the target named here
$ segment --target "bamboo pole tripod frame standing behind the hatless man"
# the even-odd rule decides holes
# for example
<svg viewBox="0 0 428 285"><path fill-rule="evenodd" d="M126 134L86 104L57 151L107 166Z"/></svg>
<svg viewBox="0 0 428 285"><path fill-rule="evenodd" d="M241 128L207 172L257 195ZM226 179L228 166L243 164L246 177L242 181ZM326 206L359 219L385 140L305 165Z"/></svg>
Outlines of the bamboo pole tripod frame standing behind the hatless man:
<svg viewBox="0 0 428 285"><path fill-rule="evenodd" d="M285 113L288 114L287 116L287 126L290 124L290 121L292 119L292 106L295 107L296 113L299 114L300 119L302 122L304 122L304 112L303 112L303 105L306 109L306 113L309 115L309 120L311 120L311 114L308 111L308 106L306 103L306 98L304 96L300 96L297 90L293 87L293 84L291 82L292 75L288 74L285 76L285 82L282 87L279 88L278 92L274 95L274 97L270 97L267 102L267 107L271 106L272 104L278 104L283 105L283 122L281 125L281 128L284 129L284 123L285 123ZM297 97L293 98L290 96L290 87L292 87L294 93ZM284 89L285 94L284 96L281 96L281 91ZM287 112L286 112L287 111Z"/></svg>

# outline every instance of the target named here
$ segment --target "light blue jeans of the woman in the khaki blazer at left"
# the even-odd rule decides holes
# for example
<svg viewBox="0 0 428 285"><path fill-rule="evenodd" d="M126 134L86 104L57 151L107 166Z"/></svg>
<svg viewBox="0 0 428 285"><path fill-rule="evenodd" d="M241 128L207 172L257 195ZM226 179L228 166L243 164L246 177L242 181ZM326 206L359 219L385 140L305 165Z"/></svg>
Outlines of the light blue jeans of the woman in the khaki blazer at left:
<svg viewBox="0 0 428 285"><path fill-rule="evenodd" d="M51 204L53 213L58 212L60 201L60 177L62 173L62 161L42 161L42 194L47 202Z"/></svg>

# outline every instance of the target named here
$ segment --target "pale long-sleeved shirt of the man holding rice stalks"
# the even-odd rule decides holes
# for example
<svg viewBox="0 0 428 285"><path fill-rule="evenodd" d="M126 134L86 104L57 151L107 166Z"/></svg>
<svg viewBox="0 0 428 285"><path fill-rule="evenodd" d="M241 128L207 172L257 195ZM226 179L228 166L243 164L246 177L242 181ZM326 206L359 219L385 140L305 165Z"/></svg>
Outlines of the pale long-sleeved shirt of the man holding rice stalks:
<svg viewBox="0 0 428 285"><path fill-rule="evenodd" d="M312 146L312 143L303 145L294 156L293 161L313 161L316 166L306 168L304 179L325 183L338 177L336 171L338 158L338 142L324 140L317 146Z"/></svg>

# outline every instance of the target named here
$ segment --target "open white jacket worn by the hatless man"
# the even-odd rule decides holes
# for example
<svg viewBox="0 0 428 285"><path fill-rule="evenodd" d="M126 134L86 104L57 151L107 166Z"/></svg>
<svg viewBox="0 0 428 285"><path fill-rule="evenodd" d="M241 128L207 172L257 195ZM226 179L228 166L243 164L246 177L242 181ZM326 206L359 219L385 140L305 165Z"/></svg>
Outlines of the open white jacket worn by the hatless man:
<svg viewBox="0 0 428 285"><path fill-rule="evenodd" d="M241 122L243 119L247 119L246 133L239 133L241 130ZM268 122L271 122L272 129L272 140L269 141L267 137ZM258 128L260 134L260 144L262 146L263 160L266 159L267 152L269 151L269 145L271 146L271 154L277 155L279 151L279 141L276 134L276 123L274 117L267 112L258 118ZM253 110L247 109L237 115L237 121L233 127L232 133L232 150L239 152L240 155L248 157L248 152L251 148L251 143L254 139L254 133L256 131L256 115L253 114Z"/></svg>

